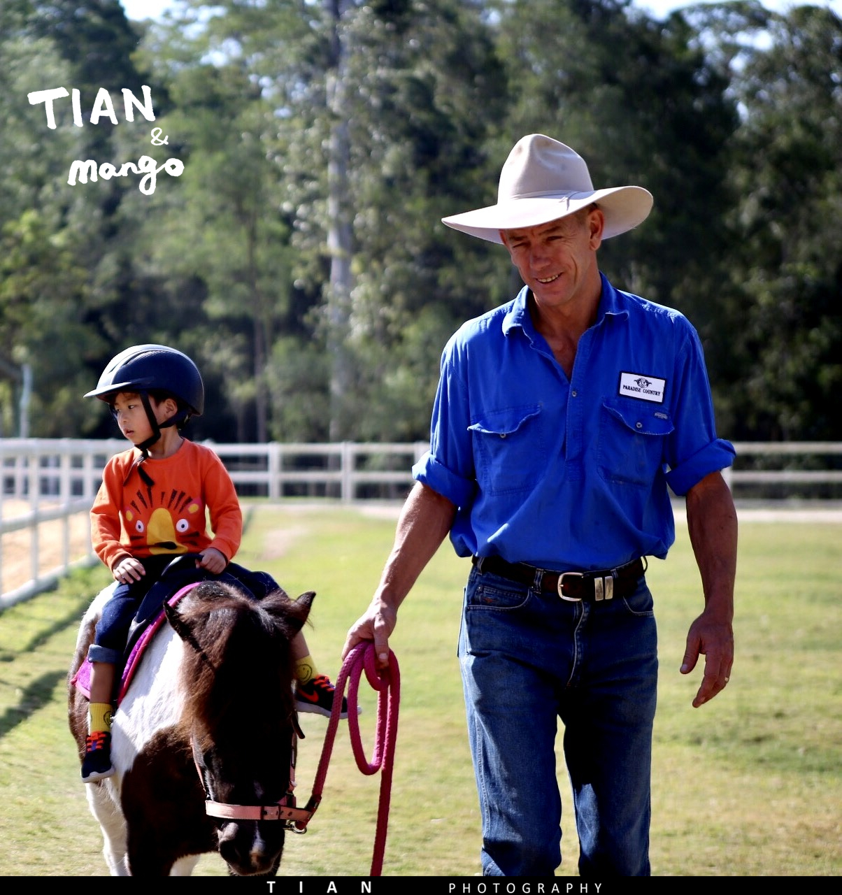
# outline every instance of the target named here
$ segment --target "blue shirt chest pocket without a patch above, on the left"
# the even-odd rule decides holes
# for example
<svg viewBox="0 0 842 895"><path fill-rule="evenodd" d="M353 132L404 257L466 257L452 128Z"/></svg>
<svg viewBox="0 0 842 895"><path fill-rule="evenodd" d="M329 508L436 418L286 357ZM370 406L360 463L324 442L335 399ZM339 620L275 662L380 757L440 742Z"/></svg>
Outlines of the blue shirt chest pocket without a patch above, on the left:
<svg viewBox="0 0 842 895"><path fill-rule="evenodd" d="M489 494L534 488L546 463L541 405L486 413L468 426L477 481Z"/></svg>

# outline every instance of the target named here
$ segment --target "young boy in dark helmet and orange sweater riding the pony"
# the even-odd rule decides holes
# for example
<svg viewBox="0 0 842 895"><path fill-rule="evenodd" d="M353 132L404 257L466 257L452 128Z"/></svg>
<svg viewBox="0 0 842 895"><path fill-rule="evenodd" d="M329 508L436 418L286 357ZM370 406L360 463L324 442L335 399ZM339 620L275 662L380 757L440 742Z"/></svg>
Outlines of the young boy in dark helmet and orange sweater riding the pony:
<svg viewBox="0 0 842 895"><path fill-rule="evenodd" d="M181 434L191 416L204 409L200 372L186 354L166 345L133 345L108 363L97 388L85 397L105 401L134 446L108 461L90 510L94 550L118 583L88 652L89 737L81 777L91 783L115 772L111 716L116 667L140 602L174 556L198 556L195 569L177 579L179 586L228 573L259 598L267 584L276 584L268 575L231 563L242 536L234 482L210 448ZM330 715L333 684L317 673L302 634L292 646L298 711ZM345 700L341 717L347 717Z"/></svg>

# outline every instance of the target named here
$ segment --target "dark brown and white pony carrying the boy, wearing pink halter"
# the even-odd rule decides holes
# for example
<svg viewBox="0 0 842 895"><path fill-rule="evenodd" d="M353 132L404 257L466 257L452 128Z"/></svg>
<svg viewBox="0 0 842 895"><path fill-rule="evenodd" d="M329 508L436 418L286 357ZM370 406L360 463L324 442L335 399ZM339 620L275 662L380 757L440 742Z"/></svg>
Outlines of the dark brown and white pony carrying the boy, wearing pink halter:
<svg viewBox="0 0 842 895"><path fill-rule="evenodd" d="M68 677L80 762L88 700L72 681L111 590L82 618ZM301 731L290 642L315 593L291 600L278 589L255 601L219 581L185 591L166 607L169 624L158 627L115 712L115 776L85 785L106 865L115 876L186 876L217 851L230 875L274 876L292 823L265 807L234 809L294 805Z"/></svg>

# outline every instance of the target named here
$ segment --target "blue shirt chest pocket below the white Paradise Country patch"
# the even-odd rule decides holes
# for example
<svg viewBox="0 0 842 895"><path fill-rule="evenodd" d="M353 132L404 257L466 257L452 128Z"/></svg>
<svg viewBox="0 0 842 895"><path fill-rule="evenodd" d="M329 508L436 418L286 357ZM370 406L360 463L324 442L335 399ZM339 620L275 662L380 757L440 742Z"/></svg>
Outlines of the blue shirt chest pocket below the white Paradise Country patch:
<svg viewBox="0 0 842 895"><path fill-rule="evenodd" d="M600 410L600 475L625 485L651 485L664 463L669 414L647 402L609 398Z"/></svg>

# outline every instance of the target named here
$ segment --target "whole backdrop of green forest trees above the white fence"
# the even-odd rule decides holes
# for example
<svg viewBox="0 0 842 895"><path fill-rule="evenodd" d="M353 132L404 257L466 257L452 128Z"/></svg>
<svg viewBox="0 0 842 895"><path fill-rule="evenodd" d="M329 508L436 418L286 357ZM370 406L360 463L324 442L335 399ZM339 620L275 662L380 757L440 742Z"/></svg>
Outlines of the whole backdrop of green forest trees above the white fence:
<svg viewBox="0 0 842 895"><path fill-rule="evenodd" d="M596 185L640 183L644 226L600 250L621 288L685 311L720 430L838 439L840 20L759 0L653 18L628 0L118 0L0 7L0 426L111 435L79 397L117 350L200 363L200 438L428 435L438 357L519 286L440 218L494 201L515 139L548 132ZM31 90L152 91L151 125L57 127ZM66 183L72 159L168 153ZM63 345L61 352L48 350ZM736 388L738 386L738 388Z"/></svg>

